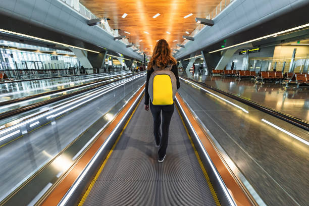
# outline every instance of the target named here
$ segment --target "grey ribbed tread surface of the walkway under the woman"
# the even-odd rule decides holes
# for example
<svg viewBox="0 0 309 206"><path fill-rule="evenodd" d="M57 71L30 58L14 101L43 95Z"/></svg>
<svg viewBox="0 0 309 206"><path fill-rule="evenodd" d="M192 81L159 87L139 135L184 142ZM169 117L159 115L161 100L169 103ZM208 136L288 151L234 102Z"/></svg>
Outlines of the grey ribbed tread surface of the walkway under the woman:
<svg viewBox="0 0 309 206"><path fill-rule="evenodd" d="M220 205L176 108L163 163L152 131L140 103L80 205Z"/></svg>

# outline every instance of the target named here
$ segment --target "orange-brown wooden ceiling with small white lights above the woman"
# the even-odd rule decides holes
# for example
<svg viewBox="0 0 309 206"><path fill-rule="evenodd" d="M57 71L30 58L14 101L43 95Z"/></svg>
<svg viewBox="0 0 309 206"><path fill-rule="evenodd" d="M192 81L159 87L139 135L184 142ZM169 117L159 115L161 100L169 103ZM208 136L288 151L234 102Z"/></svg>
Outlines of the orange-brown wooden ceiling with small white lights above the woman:
<svg viewBox="0 0 309 206"><path fill-rule="evenodd" d="M185 31L191 33L198 26L195 17L207 17L221 0L80 0L80 2L97 17L110 18L109 24L113 29L121 29L120 34L126 35L129 42L140 45L141 50L147 48L146 51L151 54L156 40L162 38L169 42L171 48L176 48L177 43L183 42L182 35L187 35ZM128 15L123 19L124 13ZM153 19L157 13L160 16ZM193 15L183 18L190 13Z"/></svg>

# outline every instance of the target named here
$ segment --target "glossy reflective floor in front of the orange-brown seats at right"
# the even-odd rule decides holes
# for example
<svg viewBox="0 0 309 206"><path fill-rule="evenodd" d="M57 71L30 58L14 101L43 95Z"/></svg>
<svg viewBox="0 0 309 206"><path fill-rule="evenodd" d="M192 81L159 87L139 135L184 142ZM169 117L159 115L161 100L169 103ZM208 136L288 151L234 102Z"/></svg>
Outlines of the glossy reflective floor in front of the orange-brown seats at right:
<svg viewBox="0 0 309 206"><path fill-rule="evenodd" d="M180 71L180 76L204 82L238 96L247 98L266 107L294 116L309 122L309 87L300 89L284 88L281 84L255 84L250 79L236 81L234 77L210 77L186 71Z"/></svg>

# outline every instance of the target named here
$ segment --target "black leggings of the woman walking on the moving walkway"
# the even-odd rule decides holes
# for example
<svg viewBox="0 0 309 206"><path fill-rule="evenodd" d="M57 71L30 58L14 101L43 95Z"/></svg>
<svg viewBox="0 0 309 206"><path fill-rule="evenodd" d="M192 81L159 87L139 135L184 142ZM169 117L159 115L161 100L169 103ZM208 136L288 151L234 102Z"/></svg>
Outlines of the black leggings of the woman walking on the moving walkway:
<svg viewBox="0 0 309 206"><path fill-rule="evenodd" d="M160 144L160 148L158 151L159 158L163 158L166 154L166 148L169 139L169 128L172 115L174 113L174 109L175 109L174 104L160 106L160 105L152 105L150 101L150 111L153 117L153 134L155 135L157 145ZM160 131L161 111L162 111L162 126L161 126L162 135Z"/></svg>

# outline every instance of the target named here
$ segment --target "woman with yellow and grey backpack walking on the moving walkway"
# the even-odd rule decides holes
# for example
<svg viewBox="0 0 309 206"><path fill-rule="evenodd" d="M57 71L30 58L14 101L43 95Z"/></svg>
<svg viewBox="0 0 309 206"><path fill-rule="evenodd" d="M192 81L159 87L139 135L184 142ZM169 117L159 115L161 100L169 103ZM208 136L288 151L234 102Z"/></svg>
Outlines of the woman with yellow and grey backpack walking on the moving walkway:
<svg viewBox="0 0 309 206"><path fill-rule="evenodd" d="M153 134L155 135L156 146L159 147L158 162L162 163L166 157L169 127L175 109L174 98L180 84L176 60L171 55L168 42L165 39L159 40L152 54L147 68L145 110L149 111L150 98L150 111L153 117Z"/></svg>

